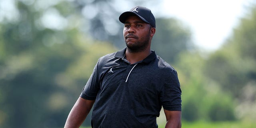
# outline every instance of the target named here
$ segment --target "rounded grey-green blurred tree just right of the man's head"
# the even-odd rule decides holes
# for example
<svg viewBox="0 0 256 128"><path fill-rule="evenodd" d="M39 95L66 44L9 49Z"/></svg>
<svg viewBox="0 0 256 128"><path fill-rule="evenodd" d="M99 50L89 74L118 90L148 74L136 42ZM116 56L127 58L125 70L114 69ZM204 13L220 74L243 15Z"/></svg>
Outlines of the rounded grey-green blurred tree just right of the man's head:
<svg viewBox="0 0 256 128"><path fill-rule="evenodd" d="M157 18L156 23L151 46L164 60L173 63L180 52L192 48L190 30L182 22L173 18Z"/></svg>

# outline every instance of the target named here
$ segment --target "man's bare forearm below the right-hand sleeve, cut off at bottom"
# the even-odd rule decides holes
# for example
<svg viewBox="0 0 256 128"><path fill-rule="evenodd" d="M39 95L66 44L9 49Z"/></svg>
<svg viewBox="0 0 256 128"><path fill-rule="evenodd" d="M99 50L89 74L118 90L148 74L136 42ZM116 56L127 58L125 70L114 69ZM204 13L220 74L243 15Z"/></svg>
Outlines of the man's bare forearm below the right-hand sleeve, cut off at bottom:
<svg viewBox="0 0 256 128"><path fill-rule="evenodd" d="M165 128L181 128L181 111L169 111L164 109L166 116Z"/></svg>

